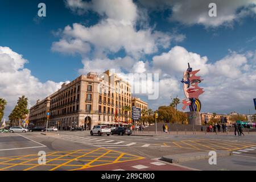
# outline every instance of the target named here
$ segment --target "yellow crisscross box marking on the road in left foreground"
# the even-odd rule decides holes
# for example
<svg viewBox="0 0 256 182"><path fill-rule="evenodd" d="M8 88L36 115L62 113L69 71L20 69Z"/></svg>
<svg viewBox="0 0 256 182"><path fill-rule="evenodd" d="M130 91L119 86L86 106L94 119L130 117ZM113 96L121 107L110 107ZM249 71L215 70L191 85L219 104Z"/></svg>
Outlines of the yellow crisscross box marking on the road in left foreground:
<svg viewBox="0 0 256 182"><path fill-rule="evenodd" d="M71 159L67 159L68 157L71 157ZM105 148L49 152L46 155L46 164L38 164L38 158L39 156L37 154L0 157L0 171L10 169L15 171L33 171L37 169L45 169L49 171L54 171L56 169L73 171L144 159L141 156Z"/></svg>

